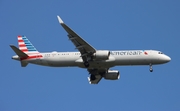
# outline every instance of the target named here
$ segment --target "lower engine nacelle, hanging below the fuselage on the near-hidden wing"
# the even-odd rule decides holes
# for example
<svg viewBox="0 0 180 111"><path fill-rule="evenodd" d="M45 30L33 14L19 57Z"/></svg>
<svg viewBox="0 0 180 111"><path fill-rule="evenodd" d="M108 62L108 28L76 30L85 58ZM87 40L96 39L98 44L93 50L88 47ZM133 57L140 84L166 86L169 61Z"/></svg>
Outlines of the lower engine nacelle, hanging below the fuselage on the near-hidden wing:
<svg viewBox="0 0 180 111"><path fill-rule="evenodd" d="M108 72L104 74L104 79L117 80L119 78L120 72L118 70L108 70Z"/></svg>

